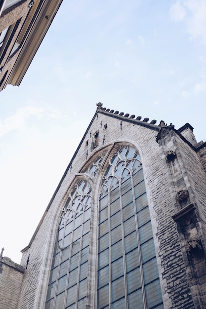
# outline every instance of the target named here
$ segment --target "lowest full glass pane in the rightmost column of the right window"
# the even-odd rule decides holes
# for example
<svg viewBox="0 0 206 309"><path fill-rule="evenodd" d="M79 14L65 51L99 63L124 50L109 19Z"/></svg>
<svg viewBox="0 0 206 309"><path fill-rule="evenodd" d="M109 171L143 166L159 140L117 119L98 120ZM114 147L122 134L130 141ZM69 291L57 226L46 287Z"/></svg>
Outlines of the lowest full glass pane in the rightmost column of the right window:
<svg viewBox="0 0 206 309"><path fill-rule="evenodd" d="M156 305L162 303L163 298L159 279L145 286L145 295L148 309L155 308Z"/></svg>

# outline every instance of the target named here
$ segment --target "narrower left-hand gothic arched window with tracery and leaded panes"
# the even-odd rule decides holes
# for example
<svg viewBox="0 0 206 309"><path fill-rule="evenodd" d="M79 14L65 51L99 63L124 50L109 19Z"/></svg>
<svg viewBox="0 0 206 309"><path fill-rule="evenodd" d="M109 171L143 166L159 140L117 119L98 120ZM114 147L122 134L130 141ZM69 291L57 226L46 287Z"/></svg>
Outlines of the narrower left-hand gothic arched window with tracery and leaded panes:
<svg viewBox="0 0 206 309"><path fill-rule="evenodd" d="M77 181L62 209L45 309L85 308L91 186Z"/></svg>

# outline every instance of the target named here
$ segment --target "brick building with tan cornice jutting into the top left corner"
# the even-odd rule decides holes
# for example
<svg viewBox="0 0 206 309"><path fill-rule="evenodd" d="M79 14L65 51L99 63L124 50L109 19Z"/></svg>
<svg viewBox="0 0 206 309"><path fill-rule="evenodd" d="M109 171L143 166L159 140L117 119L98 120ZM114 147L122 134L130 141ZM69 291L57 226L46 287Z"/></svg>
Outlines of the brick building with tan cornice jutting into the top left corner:
<svg viewBox="0 0 206 309"><path fill-rule="evenodd" d="M21 83L62 0L0 0L0 91Z"/></svg>

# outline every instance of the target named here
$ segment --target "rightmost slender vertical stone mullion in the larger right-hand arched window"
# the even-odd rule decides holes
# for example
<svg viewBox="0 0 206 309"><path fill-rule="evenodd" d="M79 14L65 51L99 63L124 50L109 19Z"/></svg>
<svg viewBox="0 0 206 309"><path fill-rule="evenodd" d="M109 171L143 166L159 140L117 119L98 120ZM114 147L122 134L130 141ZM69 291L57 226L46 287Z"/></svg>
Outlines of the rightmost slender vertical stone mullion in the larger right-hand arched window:
<svg viewBox="0 0 206 309"><path fill-rule="evenodd" d="M138 245L138 255L139 255L140 277L141 277L141 284L142 284L143 306L144 306L144 309L147 309L146 296L145 296L145 288L144 288L143 267L142 267L142 256L141 256L141 248L140 248L140 238L139 238L139 226L138 226L137 213L136 213L134 182L133 182L132 175L131 175L131 188L132 188L132 197L133 197L134 218L135 218L136 232L137 232L137 245Z"/></svg>

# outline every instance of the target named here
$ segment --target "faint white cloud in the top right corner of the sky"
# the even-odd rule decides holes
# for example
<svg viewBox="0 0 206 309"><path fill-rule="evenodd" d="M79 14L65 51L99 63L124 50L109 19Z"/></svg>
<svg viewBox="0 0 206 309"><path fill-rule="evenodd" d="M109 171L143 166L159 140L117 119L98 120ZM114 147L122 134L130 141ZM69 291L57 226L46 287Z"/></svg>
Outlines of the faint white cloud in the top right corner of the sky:
<svg viewBox="0 0 206 309"><path fill-rule="evenodd" d="M178 0L169 10L172 21L184 21L190 39L201 39L206 44L206 1Z"/></svg>

